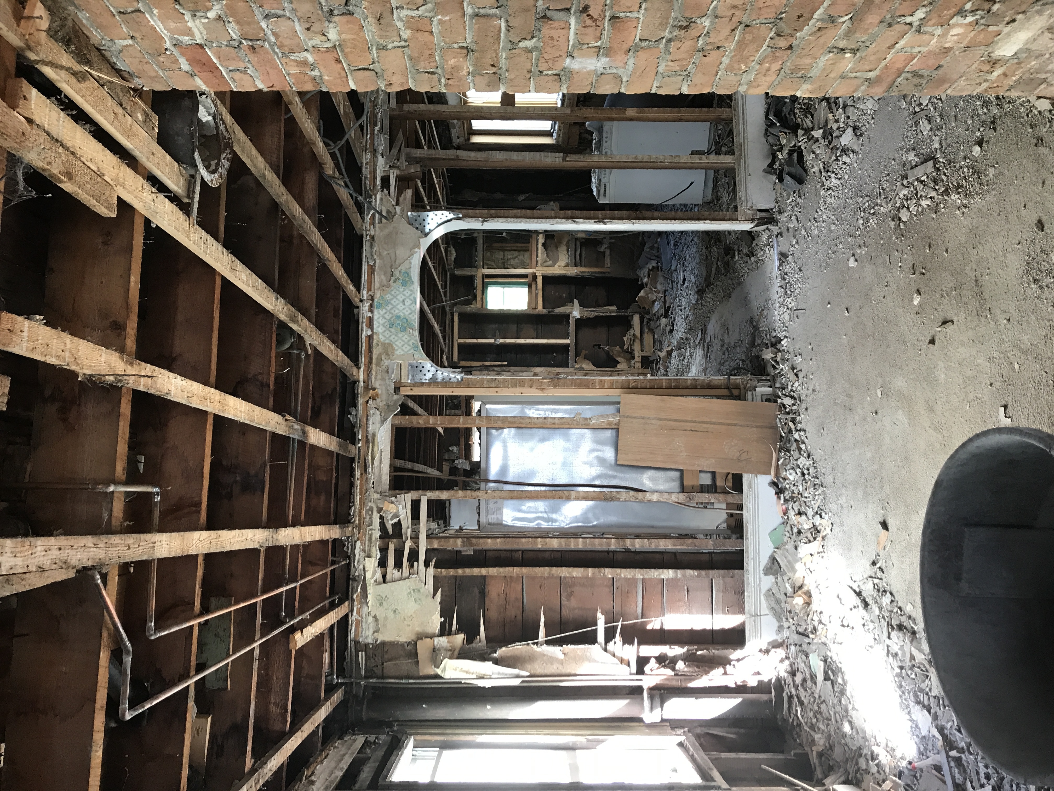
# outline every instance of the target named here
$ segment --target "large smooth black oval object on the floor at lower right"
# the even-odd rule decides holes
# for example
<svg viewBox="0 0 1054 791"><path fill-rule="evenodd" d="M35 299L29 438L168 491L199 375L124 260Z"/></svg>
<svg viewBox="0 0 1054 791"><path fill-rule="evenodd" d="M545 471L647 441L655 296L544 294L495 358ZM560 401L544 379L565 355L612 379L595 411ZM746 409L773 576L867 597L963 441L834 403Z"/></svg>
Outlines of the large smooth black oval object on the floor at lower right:
<svg viewBox="0 0 1054 791"><path fill-rule="evenodd" d="M993 428L944 462L919 558L934 667L1007 774L1054 785L1054 436Z"/></svg>

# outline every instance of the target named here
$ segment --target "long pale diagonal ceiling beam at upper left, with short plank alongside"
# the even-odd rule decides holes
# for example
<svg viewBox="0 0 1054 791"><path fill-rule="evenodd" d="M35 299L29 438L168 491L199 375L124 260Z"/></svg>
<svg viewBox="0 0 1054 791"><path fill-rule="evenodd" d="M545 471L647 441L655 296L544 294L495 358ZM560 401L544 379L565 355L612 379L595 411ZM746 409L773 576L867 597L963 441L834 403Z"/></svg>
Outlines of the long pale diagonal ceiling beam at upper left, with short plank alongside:
<svg viewBox="0 0 1054 791"><path fill-rule="evenodd" d="M160 226L174 239L245 291L265 310L288 324L350 378L358 378L358 369L348 356L301 313L282 300L274 289L33 86L24 80L16 82L17 88L8 86L7 99L17 101L14 107L19 115L76 152L96 173L112 184L117 194L134 209ZM0 119L11 112L6 105L0 107ZM0 123L0 132L3 128L4 124ZM0 143L2 142L0 140ZM36 167L34 160L26 159L26 161Z"/></svg>

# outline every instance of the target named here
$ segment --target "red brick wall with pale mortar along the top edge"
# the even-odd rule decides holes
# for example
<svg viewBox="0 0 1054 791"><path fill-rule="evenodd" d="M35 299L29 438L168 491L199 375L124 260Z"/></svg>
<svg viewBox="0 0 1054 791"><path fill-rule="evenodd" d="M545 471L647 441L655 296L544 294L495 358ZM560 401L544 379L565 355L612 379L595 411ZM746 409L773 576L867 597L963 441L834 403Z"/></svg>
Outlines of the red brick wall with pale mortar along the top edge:
<svg viewBox="0 0 1054 791"><path fill-rule="evenodd" d="M1054 0L71 0L150 89L1054 95Z"/></svg>

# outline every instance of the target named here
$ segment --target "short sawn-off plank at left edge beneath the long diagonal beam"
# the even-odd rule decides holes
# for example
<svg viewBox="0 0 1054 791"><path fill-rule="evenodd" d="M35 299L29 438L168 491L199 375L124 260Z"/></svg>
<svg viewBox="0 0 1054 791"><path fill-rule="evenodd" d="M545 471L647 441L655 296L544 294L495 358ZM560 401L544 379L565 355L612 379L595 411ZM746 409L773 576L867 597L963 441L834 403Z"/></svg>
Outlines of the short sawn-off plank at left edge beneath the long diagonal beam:
<svg viewBox="0 0 1054 791"><path fill-rule="evenodd" d="M103 217L117 216L117 190L113 186L6 107L0 108L0 146L33 165L92 211Z"/></svg>

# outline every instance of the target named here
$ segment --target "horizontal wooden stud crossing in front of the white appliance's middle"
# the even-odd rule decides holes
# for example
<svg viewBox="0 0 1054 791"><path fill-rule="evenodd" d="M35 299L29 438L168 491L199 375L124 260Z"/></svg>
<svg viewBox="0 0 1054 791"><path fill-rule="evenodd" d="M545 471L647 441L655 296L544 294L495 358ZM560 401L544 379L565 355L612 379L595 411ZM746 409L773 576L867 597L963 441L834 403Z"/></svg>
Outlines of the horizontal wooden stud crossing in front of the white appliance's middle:
<svg viewBox="0 0 1054 791"><path fill-rule="evenodd" d="M285 93L285 92L284 92ZM735 156L558 154L529 151L404 149L409 165L482 170L734 170Z"/></svg>

